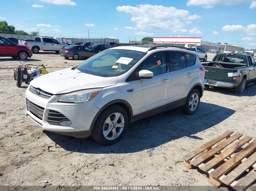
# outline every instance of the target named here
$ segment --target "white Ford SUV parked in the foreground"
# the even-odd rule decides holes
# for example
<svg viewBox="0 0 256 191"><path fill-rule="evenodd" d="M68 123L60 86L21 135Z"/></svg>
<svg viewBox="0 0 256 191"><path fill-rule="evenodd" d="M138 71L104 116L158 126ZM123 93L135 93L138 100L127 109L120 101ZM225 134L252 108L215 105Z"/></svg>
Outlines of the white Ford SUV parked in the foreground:
<svg viewBox="0 0 256 191"><path fill-rule="evenodd" d="M110 145L139 119L176 107L195 113L204 72L184 47L117 45L31 81L26 115L47 131Z"/></svg>

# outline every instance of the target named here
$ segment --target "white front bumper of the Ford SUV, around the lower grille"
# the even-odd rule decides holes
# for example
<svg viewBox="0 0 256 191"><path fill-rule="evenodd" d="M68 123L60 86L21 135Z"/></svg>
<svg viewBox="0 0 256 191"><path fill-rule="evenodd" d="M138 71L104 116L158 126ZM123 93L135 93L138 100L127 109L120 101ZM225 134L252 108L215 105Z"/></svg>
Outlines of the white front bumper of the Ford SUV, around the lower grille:
<svg viewBox="0 0 256 191"><path fill-rule="evenodd" d="M44 98L38 94L32 93L28 86L26 91L26 112L25 114L44 130L56 132L59 134L70 135L74 137L86 137L91 133L91 123L98 113L99 109L90 101L84 103L59 103L58 99L61 95L52 95ZM41 109L41 114L31 110L31 103L34 107ZM36 108L35 108L36 109ZM60 123L49 122L49 113L56 111L71 121L71 125L62 126ZM42 119L41 119L42 118ZM48 120L48 121L47 121Z"/></svg>

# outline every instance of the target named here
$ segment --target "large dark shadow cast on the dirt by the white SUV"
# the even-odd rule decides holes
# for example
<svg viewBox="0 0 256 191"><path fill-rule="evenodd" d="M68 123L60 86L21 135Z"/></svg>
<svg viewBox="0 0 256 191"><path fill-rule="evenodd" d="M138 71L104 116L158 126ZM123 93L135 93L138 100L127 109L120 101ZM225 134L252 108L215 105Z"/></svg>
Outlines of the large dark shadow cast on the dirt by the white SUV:
<svg viewBox="0 0 256 191"><path fill-rule="evenodd" d="M233 113L234 110L204 102L200 103L194 115L185 115L179 109L173 109L130 124L121 140L108 146L99 144L91 137L79 139L47 131L44 133L67 151L94 154L132 153L184 136L203 140L194 134L217 125Z"/></svg>

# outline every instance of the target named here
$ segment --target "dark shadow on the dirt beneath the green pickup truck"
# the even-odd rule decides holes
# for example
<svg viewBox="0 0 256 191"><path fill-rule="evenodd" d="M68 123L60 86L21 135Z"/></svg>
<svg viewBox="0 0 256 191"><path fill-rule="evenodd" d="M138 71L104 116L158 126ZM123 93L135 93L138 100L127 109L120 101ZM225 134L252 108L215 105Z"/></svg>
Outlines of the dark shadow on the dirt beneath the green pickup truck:
<svg viewBox="0 0 256 191"><path fill-rule="evenodd" d="M242 93L234 92L233 89L227 89L227 88L214 87L211 89L208 86L204 87L204 91L213 91L213 92L218 92L220 94L238 96L238 97L242 97L242 96L253 97L256 95L255 87L256 87L256 84L247 85Z"/></svg>

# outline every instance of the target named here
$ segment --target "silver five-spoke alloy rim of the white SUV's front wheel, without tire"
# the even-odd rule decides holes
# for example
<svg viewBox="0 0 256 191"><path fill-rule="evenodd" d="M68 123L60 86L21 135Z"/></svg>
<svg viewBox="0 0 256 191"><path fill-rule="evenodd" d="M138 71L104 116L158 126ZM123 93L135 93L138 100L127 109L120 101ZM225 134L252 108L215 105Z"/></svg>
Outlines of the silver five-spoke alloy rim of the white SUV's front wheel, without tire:
<svg viewBox="0 0 256 191"><path fill-rule="evenodd" d="M125 126L125 119L121 113L112 113L105 120L103 125L103 135L108 140L116 139Z"/></svg>

